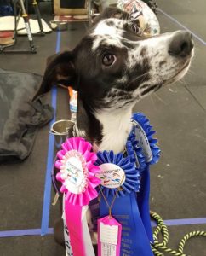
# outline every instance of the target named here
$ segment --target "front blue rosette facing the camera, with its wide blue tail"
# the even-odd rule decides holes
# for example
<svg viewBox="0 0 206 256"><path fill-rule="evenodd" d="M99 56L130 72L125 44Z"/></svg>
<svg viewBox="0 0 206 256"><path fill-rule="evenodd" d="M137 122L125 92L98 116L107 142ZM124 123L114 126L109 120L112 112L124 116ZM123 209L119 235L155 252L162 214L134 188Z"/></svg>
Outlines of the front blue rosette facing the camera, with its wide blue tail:
<svg viewBox="0 0 206 256"><path fill-rule="evenodd" d="M127 148L132 149L131 143L127 145ZM116 168L119 167L119 170L123 170L125 175L119 188L109 188L104 185L108 178L106 175L116 171L114 172L115 168L104 170L103 173L106 175L102 176L103 183L100 185L100 192L104 193L106 198L106 200L103 196L100 198L100 218L108 215L108 205L112 205L112 216L123 225L120 255L152 256L150 241L140 216L135 192L135 189L140 186L140 173L136 168L135 154L131 152L124 157L122 153L114 154L112 151L103 151L98 152L97 157L96 165L100 167L100 170L105 164L112 164L117 166Z"/></svg>

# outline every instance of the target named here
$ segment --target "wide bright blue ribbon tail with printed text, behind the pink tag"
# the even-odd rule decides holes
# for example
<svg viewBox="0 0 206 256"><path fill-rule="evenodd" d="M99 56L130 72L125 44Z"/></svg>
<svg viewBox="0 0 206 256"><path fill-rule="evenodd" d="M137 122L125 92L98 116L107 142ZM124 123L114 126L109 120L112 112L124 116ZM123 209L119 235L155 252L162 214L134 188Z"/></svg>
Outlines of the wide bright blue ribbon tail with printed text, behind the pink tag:
<svg viewBox="0 0 206 256"><path fill-rule="evenodd" d="M106 200L111 205L113 195ZM108 207L103 198L100 201L100 217L108 215ZM123 225L120 255L153 256L150 241L142 223L137 205L136 193L116 198L112 216Z"/></svg>

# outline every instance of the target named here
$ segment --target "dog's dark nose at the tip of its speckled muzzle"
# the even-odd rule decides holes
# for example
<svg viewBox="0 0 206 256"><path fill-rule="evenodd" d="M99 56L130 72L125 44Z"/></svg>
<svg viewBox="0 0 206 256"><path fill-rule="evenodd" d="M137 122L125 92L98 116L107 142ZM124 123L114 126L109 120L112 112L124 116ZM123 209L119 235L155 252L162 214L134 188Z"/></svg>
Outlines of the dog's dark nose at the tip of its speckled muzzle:
<svg viewBox="0 0 206 256"><path fill-rule="evenodd" d="M186 57L191 53L193 46L191 33L176 32L169 44L169 55Z"/></svg>

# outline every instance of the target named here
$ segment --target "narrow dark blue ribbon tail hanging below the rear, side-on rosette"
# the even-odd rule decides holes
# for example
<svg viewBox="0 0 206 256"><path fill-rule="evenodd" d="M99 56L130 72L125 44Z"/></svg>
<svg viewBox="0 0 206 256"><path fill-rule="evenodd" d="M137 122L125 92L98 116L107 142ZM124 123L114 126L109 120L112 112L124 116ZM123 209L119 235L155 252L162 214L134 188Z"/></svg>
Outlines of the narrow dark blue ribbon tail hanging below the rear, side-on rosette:
<svg viewBox="0 0 206 256"><path fill-rule="evenodd" d="M153 243L152 226L150 218L150 167L141 173L141 188L137 193L137 203L140 209L140 218L145 226L148 239Z"/></svg>

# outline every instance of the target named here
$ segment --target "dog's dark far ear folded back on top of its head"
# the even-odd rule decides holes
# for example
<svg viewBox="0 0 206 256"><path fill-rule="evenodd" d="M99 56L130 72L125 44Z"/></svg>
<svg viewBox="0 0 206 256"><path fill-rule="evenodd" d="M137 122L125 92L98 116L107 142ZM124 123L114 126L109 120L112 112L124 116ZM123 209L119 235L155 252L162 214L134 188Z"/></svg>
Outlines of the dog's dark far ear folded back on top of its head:
<svg viewBox="0 0 206 256"><path fill-rule="evenodd" d="M100 22L100 20L106 20L109 18L129 20L129 14L123 12L121 9L117 9L117 7L107 7L100 15L94 19L92 26L95 26L98 22Z"/></svg>

